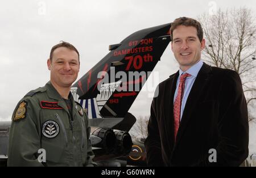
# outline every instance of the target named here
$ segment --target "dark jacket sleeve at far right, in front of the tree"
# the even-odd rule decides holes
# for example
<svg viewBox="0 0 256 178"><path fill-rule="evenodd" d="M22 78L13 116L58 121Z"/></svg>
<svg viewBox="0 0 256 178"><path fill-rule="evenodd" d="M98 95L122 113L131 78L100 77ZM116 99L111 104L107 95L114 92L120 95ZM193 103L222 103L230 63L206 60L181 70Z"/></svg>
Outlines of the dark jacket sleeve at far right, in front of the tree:
<svg viewBox="0 0 256 178"><path fill-rule="evenodd" d="M239 75L235 71L226 73L221 89L217 162L210 163L207 156L199 166L240 166L248 156L247 104Z"/></svg>

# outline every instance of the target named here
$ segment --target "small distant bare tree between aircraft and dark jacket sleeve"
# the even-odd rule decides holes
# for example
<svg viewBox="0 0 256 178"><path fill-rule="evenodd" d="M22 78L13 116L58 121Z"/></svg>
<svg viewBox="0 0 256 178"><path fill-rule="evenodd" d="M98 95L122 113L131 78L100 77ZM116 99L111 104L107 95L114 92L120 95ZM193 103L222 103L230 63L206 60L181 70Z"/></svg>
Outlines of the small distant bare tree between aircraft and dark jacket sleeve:
<svg viewBox="0 0 256 178"><path fill-rule="evenodd" d="M149 116L139 116L134 126L130 130L131 137L145 139L147 137L148 120Z"/></svg>

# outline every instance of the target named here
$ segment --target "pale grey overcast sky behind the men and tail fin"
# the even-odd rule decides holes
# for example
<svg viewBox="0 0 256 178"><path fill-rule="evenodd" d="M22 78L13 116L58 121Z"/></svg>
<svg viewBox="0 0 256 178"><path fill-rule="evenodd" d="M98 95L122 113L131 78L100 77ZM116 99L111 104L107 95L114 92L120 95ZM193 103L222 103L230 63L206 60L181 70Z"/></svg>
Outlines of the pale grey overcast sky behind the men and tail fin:
<svg viewBox="0 0 256 178"><path fill-rule="evenodd" d="M255 16L255 0L1 1L0 121L10 120L18 101L49 80L46 61L51 47L60 40L79 50L80 78L109 53L110 44L121 42L135 31L170 23L180 16L197 18L203 12L241 6L251 8ZM177 70L167 46L155 67L159 82ZM150 115L151 100L147 92L141 92L129 112L136 117ZM251 127L255 134L255 126Z"/></svg>

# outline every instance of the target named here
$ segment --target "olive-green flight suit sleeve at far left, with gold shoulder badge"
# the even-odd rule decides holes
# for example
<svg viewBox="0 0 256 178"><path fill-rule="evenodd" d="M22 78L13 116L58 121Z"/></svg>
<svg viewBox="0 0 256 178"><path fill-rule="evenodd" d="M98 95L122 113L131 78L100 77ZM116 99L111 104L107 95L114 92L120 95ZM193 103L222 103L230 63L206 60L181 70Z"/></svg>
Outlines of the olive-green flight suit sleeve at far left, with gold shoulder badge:
<svg viewBox="0 0 256 178"><path fill-rule="evenodd" d="M38 133L38 116L34 111L30 100L26 101L26 113L24 118L14 121L15 113L19 103L13 113L10 135L7 166L43 166L38 161L38 151L40 149L40 135Z"/></svg>

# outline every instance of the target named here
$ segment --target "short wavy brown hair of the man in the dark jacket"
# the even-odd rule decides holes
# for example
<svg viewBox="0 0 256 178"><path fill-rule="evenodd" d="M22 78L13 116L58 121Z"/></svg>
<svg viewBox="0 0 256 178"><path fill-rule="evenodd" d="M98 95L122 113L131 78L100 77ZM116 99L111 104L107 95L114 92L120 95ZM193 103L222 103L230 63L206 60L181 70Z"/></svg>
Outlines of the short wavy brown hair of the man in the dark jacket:
<svg viewBox="0 0 256 178"><path fill-rule="evenodd" d="M196 27L197 36L199 37L200 42L203 40L204 32L203 32L203 28L201 27L200 22L198 22L195 19L187 18L187 17L183 16L181 18L175 19L174 22L172 22L172 24L171 24L171 28L170 28L171 41L173 40L172 32L174 32L175 28L177 28L178 26Z"/></svg>

